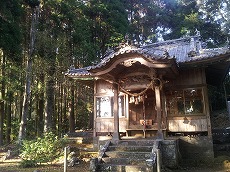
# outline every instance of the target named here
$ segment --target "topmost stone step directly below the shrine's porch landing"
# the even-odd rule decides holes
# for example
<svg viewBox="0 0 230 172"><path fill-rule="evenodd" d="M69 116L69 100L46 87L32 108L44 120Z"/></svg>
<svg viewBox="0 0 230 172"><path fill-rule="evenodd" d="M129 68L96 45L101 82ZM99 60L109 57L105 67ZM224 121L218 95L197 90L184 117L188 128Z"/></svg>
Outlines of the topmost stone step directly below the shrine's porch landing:
<svg viewBox="0 0 230 172"><path fill-rule="evenodd" d="M127 152L151 152L153 146L109 146L108 151L127 151Z"/></svg>

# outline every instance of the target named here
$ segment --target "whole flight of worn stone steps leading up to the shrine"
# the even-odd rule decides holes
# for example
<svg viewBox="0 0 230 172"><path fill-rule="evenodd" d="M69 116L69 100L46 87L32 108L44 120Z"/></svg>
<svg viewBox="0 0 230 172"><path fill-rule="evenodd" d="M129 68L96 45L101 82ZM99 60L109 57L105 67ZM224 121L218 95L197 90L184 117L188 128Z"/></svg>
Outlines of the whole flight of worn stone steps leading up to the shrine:
<svg viewBox="0 0 230 172"><path fill-rule="evenodd" d="M146 160L152 158L154 140L111 141L102 157L98 171L148 172Z"/></svg>

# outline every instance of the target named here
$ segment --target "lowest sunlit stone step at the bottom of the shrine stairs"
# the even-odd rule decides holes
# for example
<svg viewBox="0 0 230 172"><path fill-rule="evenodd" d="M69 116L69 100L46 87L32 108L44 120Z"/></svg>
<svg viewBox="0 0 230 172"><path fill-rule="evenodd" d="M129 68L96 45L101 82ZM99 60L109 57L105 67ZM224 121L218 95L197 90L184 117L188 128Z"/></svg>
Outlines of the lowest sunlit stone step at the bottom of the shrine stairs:
<svg viewBox="0 0 230 172"><path fill-rule="evenodd" d="M113 172L152 172L153 169L147 166L140 165L114 165L114 164L100 164L98 172L113 171Z"/></svg>

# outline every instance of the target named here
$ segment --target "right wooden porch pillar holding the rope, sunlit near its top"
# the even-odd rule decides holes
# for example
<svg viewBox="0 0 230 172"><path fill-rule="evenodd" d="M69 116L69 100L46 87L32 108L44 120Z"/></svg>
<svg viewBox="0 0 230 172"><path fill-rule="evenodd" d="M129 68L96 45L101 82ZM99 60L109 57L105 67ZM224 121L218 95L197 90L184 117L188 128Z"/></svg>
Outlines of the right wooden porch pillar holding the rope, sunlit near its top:
<svg viewBox="0 0 230 172"><path fill-rule="evenodd" d="M157 138L163 139L162 133L162 117L161 117L161 95L160 87L155 86L155 97L156 97L156 109L157 109Z"/></svg>

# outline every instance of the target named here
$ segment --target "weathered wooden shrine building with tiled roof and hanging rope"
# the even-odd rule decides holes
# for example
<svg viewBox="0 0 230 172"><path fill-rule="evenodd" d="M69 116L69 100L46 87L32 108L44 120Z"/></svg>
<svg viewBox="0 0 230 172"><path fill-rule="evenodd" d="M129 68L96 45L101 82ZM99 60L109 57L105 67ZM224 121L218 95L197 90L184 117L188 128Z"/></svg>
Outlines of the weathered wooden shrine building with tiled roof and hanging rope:
<svg viewBox="0 0 230 172"><path fill-rule="evenodd" d="M66 76L94 82L94 136L211 137L208 85L222 84L228 45L205 49L200 35L111 50Z"/></svg>

